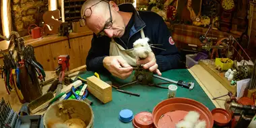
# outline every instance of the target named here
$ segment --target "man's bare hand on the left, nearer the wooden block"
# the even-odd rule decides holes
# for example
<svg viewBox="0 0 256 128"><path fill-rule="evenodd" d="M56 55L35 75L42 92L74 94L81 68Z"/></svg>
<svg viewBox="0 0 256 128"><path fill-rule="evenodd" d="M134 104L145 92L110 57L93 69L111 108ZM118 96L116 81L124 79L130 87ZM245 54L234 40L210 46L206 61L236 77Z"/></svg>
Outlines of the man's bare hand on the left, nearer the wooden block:
<svg viewBox="0 0 256 128"><path fill-rule="evenodd" d="M133 72L133 67L121 56L105 57L103 59L103 65L112 75L121 79L126 79Z"/></svg>

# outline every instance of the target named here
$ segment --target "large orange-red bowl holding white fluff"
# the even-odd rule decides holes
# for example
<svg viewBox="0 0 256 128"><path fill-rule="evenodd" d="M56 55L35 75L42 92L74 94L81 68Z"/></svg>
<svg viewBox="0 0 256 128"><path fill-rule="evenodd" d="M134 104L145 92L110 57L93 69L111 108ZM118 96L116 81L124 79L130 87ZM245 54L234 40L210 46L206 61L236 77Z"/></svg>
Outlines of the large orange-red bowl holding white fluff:
<svg viewBox="0 0 256 128"><path fill-rule="evenodd" d="M189 98L170 98L157 104L152 113L154 126L175 127L176 123L183 120L191 110L199 113L199 120L204 120L207 128L214 126L211 111L200 102Z"/></svg>

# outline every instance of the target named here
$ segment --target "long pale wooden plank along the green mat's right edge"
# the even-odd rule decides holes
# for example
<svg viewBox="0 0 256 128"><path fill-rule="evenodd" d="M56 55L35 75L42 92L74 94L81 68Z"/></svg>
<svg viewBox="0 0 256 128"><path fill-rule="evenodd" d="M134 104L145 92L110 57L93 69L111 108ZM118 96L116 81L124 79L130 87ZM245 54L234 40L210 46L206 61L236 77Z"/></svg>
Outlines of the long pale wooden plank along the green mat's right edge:
<svg viewBox="0 0 256 128"><path fill-rule="evenodd" d="M203 88L207 96L212 100L214 97L222 96L228 94L228 90L218 82L218 80L212 76L208 71L206 71L201 65L194 65L191 67L190 72L193 77L196 78L199 85ZM221 108L225 108L225 100L229 98L228 96L224 96L222 98L212 100L216 107L220 106ZM216 103L217 102L217 103Z"/></svg>

